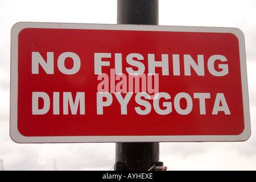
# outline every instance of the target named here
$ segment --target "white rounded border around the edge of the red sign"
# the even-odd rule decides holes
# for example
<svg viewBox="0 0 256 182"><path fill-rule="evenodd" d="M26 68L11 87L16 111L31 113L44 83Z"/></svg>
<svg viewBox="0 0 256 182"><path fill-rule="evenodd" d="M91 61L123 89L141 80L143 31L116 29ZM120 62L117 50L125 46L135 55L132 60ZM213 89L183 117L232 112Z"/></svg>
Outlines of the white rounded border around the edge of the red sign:
<svg viewBox="0 0 256 182"><path fill-rule="evenodd" d="M240 46L240 65L245 129L240 135L163 135L163 136L68 136L25 137L18 130L18 36L24 28L59 28L87 30L219 32L237 36ZM11 29L11 88L10 88L10 137L16 143L106 143L106 142L235 142L250 138L250 109L247 84L245 37L238 28L180 27L131 24L79 24L19 22Z"/></svg>

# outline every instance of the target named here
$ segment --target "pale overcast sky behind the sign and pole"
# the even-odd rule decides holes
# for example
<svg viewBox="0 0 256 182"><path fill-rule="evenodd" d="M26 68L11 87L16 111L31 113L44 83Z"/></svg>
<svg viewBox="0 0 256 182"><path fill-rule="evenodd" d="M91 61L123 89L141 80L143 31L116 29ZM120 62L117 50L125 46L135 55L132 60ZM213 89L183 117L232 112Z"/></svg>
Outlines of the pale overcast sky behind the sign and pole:
<svg viewBox="0 0 256 182"><path fill-rule="evenodd" d="M252 132L249 140L238 143L161 143L160 160L168 170L256 169L255 19L255 0L159 0L160 25L237 27L244 32ZM16 144L10 139L10 30L16 22L116 24L117 1L0 0L0 159L4 169L110 170L114 143Z"/></svg>

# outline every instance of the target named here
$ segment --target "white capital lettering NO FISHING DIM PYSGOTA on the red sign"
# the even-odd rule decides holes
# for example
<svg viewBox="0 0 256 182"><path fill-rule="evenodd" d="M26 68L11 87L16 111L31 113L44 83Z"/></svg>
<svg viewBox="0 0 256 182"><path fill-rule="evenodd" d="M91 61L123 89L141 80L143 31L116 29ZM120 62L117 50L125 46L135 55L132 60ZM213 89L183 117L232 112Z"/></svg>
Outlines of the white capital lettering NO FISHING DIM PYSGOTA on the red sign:
<svg viewBox="0 0 256 182"><path fill-rule="evenodd" d="M68 69L65 67L65 59L70 57L73 60L73 67ZM173 67L173 75L180 76L180 55L174 54L172 57L172 67ZM104 75L102 73L102 67L109 67L110 61L103 61L102 59L111 59L111 53L94 53L94 75L98 75L97 80L101 80L98 84L98 92L97 96L97 114L102 115L104 114L104 107L109 107L113 103L113 95L117 99L120 104L120 113L122 115L127 114L127 105L131 100L131 97L135 93L135 101L137 104L143 106L146 109L141 109L141 107L134 107L135 111L139 115L146 115L149 114L154 108L155 112L159 115L167 115L172 113L172 110L175 109L176 112L180 115L187 115L191 113L193 110L193 100L199 100L199 113L201 115L207 114L205 110L205 105L207 104L208 99L214 98L214 105L212 112L210 114L216 115L219 111L223 111L226 115L230 114L230 110L228 107L228 103L226 102L226 98L224 93L216 93L215 96L210 95L210 93L193 93L193 95L189 95L185 92L180 92L175 96L172 96L170 93L166 92L159 92L158 84L159 84L159 77L158 73L155 73L155 68L159 67L162 68L162 75L168 76L170 75L169 71L169 63L170 63L170 56L167 54L162 54L161 61L155 61L155 55L148 53L147 55L147 65L148 65L148 75L147 75L147 89L143 89L143 85L146 85L146 81L143 81L143 77L146 77L144 74L145 65L143 64L142 60L144 57L139 53L130 53L126 56L127 64L137 67L137 69L133 69L132 67L127 67L126 72L129 74L128 78L125 74L122 73L122 53L115 53L114 60L115 60L115 69L111 69L110 75L117 75L113 76L110 79L108 75ZM204 55L197 55L197 63L193 60L191 55L183 55L184 60L184 75L191 76L191 69L193 69L197 76L205 76L205 66L204 66ZM47 60L44 60L42 55L39 52L32 52L32 60L31 60L31 67L32 67L32 74L39 74L39 65L43 68L46 74L53 75L54 74L54 53L47 52ZM218 70L215 69L214 64L217 60L221 61L221 64L218 64ZM223 62L228 61L225 56L223 55L213 55L210 56L207 61L207 68L209 73L212 76L220 77L228 75L229 69L228 64L224 64ZM219 63L219 62L218 62ZM57 67L59 71L65 75L74 75L80 71L81 68L81 59L79 55L73 52L64 52L57 59ZM41 74L45 74L41 73ZM144 74L144 75L143 75ZM130 76L131 75L131 76ZM155 79L152 79L154 76ZM117 78L118 77L118 78ZM131 77L131 79L130 79ZM134 78L142 78L142 92L135 92L137 88L134 89L127 89L127 85L133 81ZM122 78L122 79L121 79ZM116 80L122 80L123 82L118 82L115 85ZM129 84L127 84L128 80ZM148 81L150 80L150 81ZM152 82L154 80L154 88L152 88ZM110 81L110 91L108 89ZM114 83L114 84L113 84ZM145 83L145 84L143 84ZM131 84L133 85L133 84ZM138 84L136 84L138 85ZM118 86L118 87L117 87ZM122 88L122 89L121 89ZM146 92L148 91L148 93ZM151 90L149 92L149 90ZM118 92L119 91L119 92ZM125 93L126 95L123 97L121 93ZM51 102L52 102L52 110L53 114L59 115L60 112L60 102L63 102L63 114L67 115L69 108L71 109L71 114L85 114L85 97L86 92L63 92L63 97L60 97L60 92L53 92L53 98L49 97L49 93L46 92L32 92L32 114L33 115L43 115L47 114L50 110ZM73 101L72 94L76 94L75 101ZM152 95L150 95L152 94ZM39 108L39 98L43 99L43 107ZM142 99L144 98L144 99ZM165 109L161 109L159 106L160 98L164 98L166 101L163 102L163 106ZM193 99L192 99L193 98ZM147 100L153 99L153 104L151 105L150 102ZM186 108L181 108L180 100L185 99L187 102ZM79 111L78 111L79 109Z"/></svg>

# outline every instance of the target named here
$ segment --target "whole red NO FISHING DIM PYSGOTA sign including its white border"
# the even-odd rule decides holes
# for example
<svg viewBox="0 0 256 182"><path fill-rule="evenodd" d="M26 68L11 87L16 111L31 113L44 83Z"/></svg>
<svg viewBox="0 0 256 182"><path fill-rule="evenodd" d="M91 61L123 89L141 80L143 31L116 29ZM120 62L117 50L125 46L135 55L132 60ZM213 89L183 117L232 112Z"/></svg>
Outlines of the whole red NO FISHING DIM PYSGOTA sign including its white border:
<svg viewBox="0 0 256 182"><path fill-rule="evenodd" d="M10 135L18 143L250 137L237 28L17 23Z"/></svg>

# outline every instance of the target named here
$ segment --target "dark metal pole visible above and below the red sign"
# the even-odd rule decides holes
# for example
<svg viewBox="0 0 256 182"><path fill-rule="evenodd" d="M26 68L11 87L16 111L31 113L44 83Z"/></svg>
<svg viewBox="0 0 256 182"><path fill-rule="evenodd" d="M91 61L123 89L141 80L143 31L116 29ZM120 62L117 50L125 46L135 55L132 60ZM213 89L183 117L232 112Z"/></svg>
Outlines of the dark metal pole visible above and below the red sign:
<svg viewBox="0 0 256 182"><path fill-rule="evenodd" d="M158 0L117 0L117 23L158 25L158 5ZM158 161L159 142L115 144L115 171L147 171Z"/></svg>

